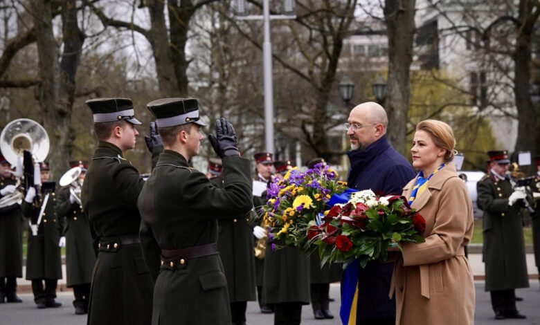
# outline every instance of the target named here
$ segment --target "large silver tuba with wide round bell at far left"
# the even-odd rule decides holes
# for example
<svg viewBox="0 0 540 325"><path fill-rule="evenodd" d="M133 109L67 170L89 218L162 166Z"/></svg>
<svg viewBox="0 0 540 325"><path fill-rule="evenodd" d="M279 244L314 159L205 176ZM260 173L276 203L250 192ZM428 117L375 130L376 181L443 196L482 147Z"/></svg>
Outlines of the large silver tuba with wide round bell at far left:
<svg viewBox="0 0 540 325"><path fill-rule="evenodd" d="M23 151L30 151L36 162L45 160L48 154L48 135L41 124L28 118L12 120L0 133L0 151L12 166L17 166L15 177L20 186L22 178ZM22 192L15 191L0 199L0 207L21 203Z"/></svg>

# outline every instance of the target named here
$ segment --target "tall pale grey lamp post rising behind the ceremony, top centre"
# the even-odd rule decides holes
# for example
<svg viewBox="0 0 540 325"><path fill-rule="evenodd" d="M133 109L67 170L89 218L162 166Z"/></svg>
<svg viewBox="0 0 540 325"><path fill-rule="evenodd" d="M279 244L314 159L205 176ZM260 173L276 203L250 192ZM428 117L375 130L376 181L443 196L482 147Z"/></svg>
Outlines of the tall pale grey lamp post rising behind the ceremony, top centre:
<svg viewBox="0 0 540 325"><path fill-rule="evenodd" d="M273 83L272 83L272 44L270 41L270 19L294 19L294 0L285 0L285 15L270 15L269 0L262 1L262 15L246 15L245 0L237 0L237 19L263 21L264 39L262 41L262 71L264 77L264 146L273 154Z"/></svg>

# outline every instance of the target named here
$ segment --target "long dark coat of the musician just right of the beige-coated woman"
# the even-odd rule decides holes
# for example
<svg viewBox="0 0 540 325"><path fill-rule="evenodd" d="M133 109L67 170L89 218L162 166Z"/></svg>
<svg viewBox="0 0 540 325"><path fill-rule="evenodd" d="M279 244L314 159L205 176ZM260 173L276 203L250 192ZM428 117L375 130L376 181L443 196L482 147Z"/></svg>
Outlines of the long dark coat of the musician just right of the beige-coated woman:
<svg viewBox="0 0 540 325"><path fill-rule="evenodd" d="M476 185L478 207L483 215L485 290L527 288L523 224L520 205L508 205L512 185L486 175Z"/></svg>

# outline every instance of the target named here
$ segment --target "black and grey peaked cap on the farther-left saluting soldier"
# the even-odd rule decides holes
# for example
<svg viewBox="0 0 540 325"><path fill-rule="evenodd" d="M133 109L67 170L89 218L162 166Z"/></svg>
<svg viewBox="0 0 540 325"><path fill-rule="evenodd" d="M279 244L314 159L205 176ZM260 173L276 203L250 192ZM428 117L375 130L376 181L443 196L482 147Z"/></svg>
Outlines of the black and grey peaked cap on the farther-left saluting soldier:
<svg viewBox="0 0 540 325"><path fill-rule="evenodd" d="M133 103L129 98L96 98L86 103L92 110L94 123L126 120L131 124L142 124L135 118Z"/></svg>

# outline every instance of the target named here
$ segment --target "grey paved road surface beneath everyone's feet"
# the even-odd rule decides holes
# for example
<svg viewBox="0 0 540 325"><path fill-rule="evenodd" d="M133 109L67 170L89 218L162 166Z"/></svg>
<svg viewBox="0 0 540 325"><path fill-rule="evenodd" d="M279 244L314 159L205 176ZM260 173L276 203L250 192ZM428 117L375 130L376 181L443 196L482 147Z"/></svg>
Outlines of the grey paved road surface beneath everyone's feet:
<svg viewBox="0 0 540 325"><path fill-rule="evenodd" d="M531 281L531 288L516 290L517 295L523 297L523 301L518 302L518 308L521 313L527 315L527 319L504 319L496 321L491 309L489 293L484 291L484 282L476 281L476 325L532 325L540 324L540 289L537 280ZM17 325L84 325L86 324L86 315L75 315L71 301L73 293L59 293L58 301L62 302L60 308L47 308L38 310L33 303L33 297L30 293L20 295L24 300L22 304L0 304L0 324ZM304 306L302 313L302 324L306 325L331 325L341 324L339 322L339 284L330 286L330 297L336 299L330 304L330 310L336 315L335 319L316 320L313 318L311 306ZM250 325L271 325L273 324L273 315L263 315L259 312L258 304L254 301L249 302L247 310L247 321ZM203 324L201 324L203 325ZM449 324L451 325L451 324Z"/></svg>

